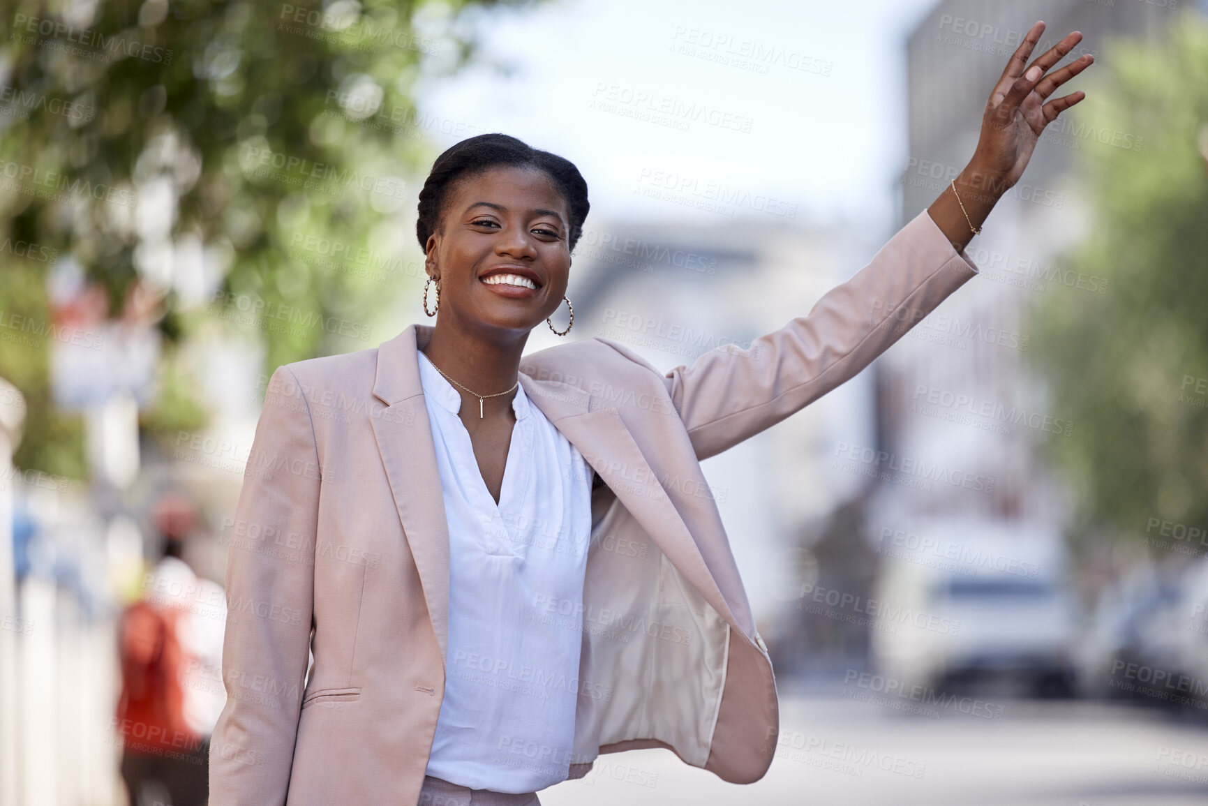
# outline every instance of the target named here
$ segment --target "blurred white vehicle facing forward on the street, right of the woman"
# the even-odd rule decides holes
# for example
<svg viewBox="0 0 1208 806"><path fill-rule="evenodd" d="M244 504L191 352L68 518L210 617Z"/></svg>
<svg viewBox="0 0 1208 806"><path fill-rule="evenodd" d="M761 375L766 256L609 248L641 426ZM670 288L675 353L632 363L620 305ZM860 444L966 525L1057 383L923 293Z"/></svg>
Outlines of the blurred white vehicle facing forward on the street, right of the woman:
<svg viewBox="0 0 1208 806"><path fill-rule="evenodd" d="M883 540L882 617L872 631L883 674L947 691L1074 692L1076 620L1058 533L1033 523L945 520Z"/></svg>

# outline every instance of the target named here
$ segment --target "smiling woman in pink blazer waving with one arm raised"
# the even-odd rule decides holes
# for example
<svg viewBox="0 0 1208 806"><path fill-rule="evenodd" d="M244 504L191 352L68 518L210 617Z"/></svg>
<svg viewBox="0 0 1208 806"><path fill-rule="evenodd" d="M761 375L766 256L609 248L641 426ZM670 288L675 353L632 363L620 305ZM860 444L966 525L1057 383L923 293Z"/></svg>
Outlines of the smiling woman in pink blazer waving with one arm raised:
<svg viewBox="0 0 1208 806"><path fill-rule="evenodd" d="M969 166L869 266L750 350L666 376L599 338L522 358L533 327L574 321L586 184L500 134L441 155L417 227L435 327L269 382L230 549L211 804L538 804L643 747L762 777L772 667L699 460L976 273L964 247L1084 95L1047 100L1091 63L1045 76L1076 31L1024 70L1043 29Z"/></svg>

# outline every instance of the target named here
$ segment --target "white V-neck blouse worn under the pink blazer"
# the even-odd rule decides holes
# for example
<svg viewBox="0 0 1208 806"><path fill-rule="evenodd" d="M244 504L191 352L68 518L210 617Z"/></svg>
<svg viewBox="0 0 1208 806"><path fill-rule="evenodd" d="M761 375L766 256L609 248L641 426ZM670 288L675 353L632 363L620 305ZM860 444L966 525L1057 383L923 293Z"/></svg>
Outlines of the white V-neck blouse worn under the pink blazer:
<svg viewBox="0 0 1208 806"><path fill-rule="evenodd" d="M448 659L428 775L536 791L569 773L591 468L517 387L496 505L458 417L461 395L422 352L419 377L449 532Z"/></svg>

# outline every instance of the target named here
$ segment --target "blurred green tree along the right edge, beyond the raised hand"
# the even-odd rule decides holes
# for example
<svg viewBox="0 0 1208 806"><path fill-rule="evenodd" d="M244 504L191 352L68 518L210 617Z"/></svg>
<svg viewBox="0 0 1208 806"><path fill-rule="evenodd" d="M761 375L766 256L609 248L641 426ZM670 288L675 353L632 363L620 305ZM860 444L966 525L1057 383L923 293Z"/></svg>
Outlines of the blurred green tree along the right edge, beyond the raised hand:
<svg viewBox="0 0 1208 806"><path fill-rule="evenodd" d="M1084 504L1075 539L1208 524L1208 23L1189 11L1163 36L1109 42L1073 110L1133 135L1080 151L1091 226L1068 260L1109 288L1035 312L1034 355L1078 423L1050 443Z"/></svg>

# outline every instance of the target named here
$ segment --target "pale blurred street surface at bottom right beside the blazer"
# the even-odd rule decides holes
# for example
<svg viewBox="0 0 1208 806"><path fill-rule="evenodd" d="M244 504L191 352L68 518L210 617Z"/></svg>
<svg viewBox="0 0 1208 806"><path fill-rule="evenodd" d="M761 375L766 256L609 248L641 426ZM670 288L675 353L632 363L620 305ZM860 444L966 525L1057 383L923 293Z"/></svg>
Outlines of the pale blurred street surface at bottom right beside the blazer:
<svg viewBox="0 0 1208 806"><path fill-rule="evenodd" d="M591 775L542 791L541 802L1190 806L1208 799L1208 730L1150 709L957 700L919 715L784 696L780 708L777 758L755 784L724 783L667 750L638 750L600 756Z"/></svg>

